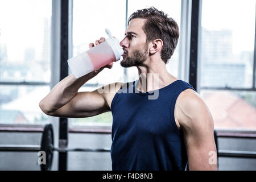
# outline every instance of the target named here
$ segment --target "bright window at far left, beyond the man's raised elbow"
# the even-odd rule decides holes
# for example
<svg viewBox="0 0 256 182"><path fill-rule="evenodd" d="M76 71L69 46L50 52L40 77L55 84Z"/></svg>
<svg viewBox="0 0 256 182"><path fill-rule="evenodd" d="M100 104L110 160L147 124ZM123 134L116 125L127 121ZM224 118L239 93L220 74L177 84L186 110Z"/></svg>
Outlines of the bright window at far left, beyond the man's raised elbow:
<svg viewBox="0 0 256 182"><path fill-rule="evenodd" d="M0 1L0 125L44 125L50 90L51 0Z"/></svg>

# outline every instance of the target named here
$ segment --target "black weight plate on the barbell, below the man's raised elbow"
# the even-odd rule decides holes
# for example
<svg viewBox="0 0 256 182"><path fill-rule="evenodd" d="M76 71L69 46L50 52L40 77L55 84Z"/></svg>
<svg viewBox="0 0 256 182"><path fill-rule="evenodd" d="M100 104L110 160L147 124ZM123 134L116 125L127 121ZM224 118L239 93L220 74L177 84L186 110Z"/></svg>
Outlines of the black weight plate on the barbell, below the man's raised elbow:
<svg viewBox="0 0 256 182"><path fill-rule="evenodd" d="M46 152L46 164L40 164L40 168L42 171L50 171L53 160L53 127L51 124L44 126L41 151Z"/></svg>

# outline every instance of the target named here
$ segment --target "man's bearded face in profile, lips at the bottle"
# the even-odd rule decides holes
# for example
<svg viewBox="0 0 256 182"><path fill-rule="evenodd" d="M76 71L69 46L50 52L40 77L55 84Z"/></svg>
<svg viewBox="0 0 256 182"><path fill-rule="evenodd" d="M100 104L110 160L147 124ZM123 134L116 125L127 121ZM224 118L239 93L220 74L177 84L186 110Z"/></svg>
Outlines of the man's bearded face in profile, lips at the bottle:
<svg viewBox="0 0 256 182"><path fill-rule="evenodd" d="M123 60L121 66L137 67L142 65L148 58L148 45L146 44L146 34L142 30L146 19L135 18L130 21L126 30L125 38L120 42L123 48Z"/></svg>

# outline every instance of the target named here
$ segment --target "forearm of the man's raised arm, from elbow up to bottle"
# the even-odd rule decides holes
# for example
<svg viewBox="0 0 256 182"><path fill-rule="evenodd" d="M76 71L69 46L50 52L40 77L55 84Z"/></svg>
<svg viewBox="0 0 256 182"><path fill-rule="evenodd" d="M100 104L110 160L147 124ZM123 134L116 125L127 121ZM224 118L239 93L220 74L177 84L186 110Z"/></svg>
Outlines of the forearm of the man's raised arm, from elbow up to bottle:
<svg viewBox="0 0 256 182"><path fill-rule="evenodd" d="M73 75L65 77L53 87L51 92L49 92L42 101L40 101L40 108L44 111L44 113L50 113L60 109L76 96L79 88L81 88L85 82L96 75L97 72L91 72L77 79Z"/></svg>

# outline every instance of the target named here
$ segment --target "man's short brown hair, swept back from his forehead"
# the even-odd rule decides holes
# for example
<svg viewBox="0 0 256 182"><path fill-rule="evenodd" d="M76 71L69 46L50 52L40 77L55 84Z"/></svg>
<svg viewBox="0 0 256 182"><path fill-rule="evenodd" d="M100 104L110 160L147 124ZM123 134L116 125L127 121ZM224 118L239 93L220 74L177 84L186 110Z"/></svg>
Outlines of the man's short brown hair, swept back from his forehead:
<svg viewBox="0 0 256 182"><path fill-rule="evenodd" d="M163 47L160 52L161 59L164 63L171 58L179 40L179 26L174 19L168 18L167 14L159 11L155 7L142 9L131 14L128 19L128 25L134 18L146 19L143 31L146 34L146 42L155 39L163 40Z"/></svg>

